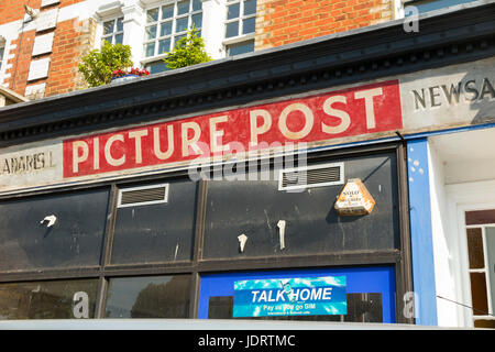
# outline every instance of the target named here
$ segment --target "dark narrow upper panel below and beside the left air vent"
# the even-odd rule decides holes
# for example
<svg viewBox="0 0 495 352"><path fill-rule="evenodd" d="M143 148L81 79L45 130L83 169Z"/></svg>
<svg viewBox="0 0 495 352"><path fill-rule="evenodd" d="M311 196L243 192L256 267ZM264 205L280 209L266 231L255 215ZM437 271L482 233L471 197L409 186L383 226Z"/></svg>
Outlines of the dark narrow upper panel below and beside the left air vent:
<svg viewBox="0 0 495 352"><path fill-rule="evenodd" d="M112 263L191 258L197 183L184 179L168 184L167 202L118 208Z"/></svg>

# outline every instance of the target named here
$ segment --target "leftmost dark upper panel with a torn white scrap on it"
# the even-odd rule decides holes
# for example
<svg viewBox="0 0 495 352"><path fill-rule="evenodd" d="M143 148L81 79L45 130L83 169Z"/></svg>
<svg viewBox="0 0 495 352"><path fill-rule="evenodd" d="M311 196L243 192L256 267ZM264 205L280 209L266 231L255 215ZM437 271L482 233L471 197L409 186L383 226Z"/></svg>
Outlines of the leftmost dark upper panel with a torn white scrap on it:
<svg viewBox="0 0 495 352"><path fill-rule="evenodd" d="M0 202L0 270L98 265L108 199L91 189Z"/></svg>

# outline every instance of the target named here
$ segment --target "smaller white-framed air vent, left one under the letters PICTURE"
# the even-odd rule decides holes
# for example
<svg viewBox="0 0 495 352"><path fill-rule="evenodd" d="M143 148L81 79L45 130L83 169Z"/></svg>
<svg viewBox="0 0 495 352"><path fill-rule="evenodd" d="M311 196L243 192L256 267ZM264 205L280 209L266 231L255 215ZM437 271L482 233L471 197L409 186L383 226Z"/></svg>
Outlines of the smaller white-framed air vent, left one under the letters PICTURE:
<svg viewBox="0 0 495 352"><path fill-rule="evenodd" d="M118 207L136 207L168 201L168 184L120 189Z"/></svg>

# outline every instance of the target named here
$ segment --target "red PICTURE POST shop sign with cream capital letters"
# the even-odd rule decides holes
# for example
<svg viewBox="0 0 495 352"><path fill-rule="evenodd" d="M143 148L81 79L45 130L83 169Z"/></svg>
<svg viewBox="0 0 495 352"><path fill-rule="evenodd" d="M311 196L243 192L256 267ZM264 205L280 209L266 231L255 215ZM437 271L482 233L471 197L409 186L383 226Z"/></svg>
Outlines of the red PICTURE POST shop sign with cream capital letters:
<svg viewBox="0 0 495 352"><path fill-rule="evenodd" d="M398 80L64 141L64 177L403 128Z"/></svg>

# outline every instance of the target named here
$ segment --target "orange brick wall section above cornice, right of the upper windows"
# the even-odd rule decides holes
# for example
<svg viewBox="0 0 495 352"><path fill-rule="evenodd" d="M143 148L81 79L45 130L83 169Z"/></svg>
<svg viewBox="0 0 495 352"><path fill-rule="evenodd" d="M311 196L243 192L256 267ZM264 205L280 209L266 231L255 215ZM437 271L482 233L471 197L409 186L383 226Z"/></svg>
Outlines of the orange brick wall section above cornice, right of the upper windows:
<svg viewBox="0 0 495 352"><path fill-rule="evenodd" d="M255 50L393 20L393 0L257 0Z"/></svg>

